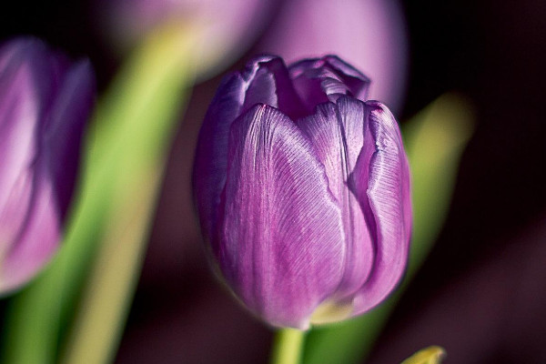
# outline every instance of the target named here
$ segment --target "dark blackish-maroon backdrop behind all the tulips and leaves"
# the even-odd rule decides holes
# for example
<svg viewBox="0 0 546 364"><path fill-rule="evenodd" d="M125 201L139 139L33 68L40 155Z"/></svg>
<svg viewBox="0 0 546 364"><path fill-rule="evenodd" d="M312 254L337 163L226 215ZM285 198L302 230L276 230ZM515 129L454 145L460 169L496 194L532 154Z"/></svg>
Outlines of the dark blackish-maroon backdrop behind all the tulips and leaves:
<svg viewBox="0 0 546 364"><path fill-rule="evenodd" d="M36 35L89 56L104 90L118 64L91 5L10 2L0 39ZM546 2L414 0L404 9L410 81L401 120L458 90L476 107L477 128L447 223L369 362L438 344L447 363L544 363ZM181 121L119 363L267 362L272 331L210 274L191 205L197 130L219 79L195 88Z"/></svg>

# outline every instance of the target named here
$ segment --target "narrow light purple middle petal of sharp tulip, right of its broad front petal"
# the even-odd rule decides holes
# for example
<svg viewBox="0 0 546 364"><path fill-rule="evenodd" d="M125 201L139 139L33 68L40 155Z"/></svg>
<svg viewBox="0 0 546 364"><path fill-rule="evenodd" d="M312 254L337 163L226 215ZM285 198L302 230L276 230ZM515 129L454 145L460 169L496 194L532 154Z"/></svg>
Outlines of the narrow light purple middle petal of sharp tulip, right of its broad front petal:
<svg viewBox="0 0 546 364"><path fill-rule="evenodd" d="M299 128L317 149L319 161L326 168L329 189L343 212L347 260L335 300L350 297L364 284L374 258L366 218L347 184L363 146L364 118L364 103L343 96L337 105L321 104L315 115L298 120Z"/></svg>

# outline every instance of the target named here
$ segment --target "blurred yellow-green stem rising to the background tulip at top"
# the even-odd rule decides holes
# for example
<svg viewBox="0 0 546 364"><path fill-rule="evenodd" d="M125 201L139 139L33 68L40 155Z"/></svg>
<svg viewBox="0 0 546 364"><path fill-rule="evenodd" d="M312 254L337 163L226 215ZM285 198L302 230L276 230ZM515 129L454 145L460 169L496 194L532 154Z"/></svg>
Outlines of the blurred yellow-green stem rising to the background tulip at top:
<svg viewBox="0 0 546 364"><path fill-rule="evenodd" d="M167 153L191 81L189 31L150 35L118 76L96 116L89 164L108 166L112 188L97 255L61 362L113 362L136 288ZM105 154L104 150L111 152ZM89 196L96 198L96 195Z"/></svg>

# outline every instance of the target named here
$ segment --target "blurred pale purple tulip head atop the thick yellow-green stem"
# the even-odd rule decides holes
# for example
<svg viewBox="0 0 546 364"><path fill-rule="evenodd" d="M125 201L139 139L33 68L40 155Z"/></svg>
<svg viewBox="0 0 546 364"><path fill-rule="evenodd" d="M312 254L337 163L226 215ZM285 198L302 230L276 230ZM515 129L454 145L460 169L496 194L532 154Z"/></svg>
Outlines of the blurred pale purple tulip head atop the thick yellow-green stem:
<svg viewBox="0 0 546 364"><path fill-rule="evenodd" d="M225 68L256 39L277 0L105 0L100 1L101 29L126 50L157 26L190 25L197 38L192 54L197 74ZM106 26L105 26L106 25Z"/></svg>

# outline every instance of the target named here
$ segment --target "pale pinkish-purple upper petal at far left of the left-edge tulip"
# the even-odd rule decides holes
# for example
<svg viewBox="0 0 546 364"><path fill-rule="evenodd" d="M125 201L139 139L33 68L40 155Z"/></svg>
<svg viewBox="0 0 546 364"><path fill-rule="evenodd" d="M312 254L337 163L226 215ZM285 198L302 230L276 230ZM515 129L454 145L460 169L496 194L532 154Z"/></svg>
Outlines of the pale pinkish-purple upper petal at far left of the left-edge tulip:
<svg viewBox="0 0 546 364"><path fill-rule="evenodd" d="M41 153L40 137L56 99L66 59L51 53L40 40L28 37L0 49L0 227L12 238L21 227L30 199L28 188ZM76 155L75 153L71 153ZM74 171L76 173L76 171ZM7 228L9 226L9 228ZM4 247L5 248L5 247Z"/></svg>

